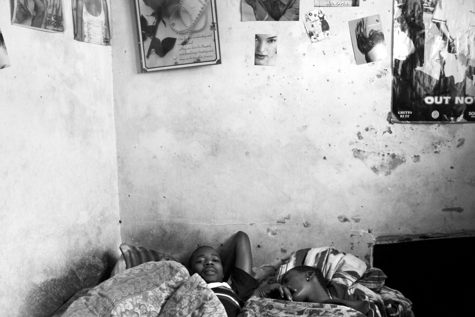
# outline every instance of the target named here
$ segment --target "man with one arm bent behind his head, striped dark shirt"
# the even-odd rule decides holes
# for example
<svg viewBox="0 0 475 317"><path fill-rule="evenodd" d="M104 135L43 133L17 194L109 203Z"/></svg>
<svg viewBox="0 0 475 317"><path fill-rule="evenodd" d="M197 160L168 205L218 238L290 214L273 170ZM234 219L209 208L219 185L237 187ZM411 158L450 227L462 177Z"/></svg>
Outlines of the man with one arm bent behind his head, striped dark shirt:
<svg viewBox="0 0 475 317"><path fill-rule="evenodd" d="M208 283L223 304L228 317L240 313L244 302L259 283L251 276L252 252L249 237L240 231L234 235L224 265L218 252L210 246L197 248L188 261L191 274L197 273ZM231 284L226 282L230 278Z"/></svg>

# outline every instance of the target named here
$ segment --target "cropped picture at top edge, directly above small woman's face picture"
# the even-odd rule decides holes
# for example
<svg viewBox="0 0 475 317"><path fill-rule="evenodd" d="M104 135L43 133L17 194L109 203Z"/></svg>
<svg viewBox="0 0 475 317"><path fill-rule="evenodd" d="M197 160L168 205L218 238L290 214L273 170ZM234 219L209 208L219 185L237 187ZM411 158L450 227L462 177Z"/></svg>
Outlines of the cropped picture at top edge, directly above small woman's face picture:
<svg viewBox="0 0 475 317"><path fill-rule="evenodd" d="M241 21L299 21L300 0L241 0Z"/></svg>

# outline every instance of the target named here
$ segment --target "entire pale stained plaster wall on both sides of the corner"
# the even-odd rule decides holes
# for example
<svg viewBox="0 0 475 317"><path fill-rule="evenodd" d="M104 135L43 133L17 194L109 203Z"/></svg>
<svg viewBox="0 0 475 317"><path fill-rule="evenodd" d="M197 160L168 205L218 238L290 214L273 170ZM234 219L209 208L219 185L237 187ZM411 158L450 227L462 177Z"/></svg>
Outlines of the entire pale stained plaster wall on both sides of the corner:
<svg viewBox="0 0 475 317"><path fill-rule="evenodd" d="M244 230L260 266L475 231L475 125L390 125L390 61L354 62L348 21L380 14L389 38L390 0L328 8L317 44L239 6L218 0L222 65L149 74L131 1L112 4L112 51L72 40L69 1L64 34L0 12L0 315L49 315L121 240L185 259ZM278 66L253 65L255 33L279 35Z"/></svg>

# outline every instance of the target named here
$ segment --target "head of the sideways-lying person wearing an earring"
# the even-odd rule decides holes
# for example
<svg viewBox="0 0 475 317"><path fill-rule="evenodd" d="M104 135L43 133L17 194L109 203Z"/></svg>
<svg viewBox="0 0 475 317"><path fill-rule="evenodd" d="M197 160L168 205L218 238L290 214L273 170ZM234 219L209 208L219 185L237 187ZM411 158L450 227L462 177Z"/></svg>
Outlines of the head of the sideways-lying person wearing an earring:
<svg viewBox="0 0 475 317"><path fill-rule="evenodd" d="M321 271L312 266L290 269L283 275L281 284L291 290L294 301L318 303L327 296L326 280Z"/></svg>

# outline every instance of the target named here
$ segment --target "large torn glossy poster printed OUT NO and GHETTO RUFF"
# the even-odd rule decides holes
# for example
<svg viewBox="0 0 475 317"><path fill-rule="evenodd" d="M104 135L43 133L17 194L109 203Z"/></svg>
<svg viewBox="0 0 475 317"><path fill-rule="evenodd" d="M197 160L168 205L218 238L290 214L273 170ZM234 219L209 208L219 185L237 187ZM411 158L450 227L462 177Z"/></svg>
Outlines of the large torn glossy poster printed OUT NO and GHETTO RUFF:
<svg viewBox="0 0 475 317"><path fill-rule="evenodd" d="M392 118L475 122L475 1L394 0Z"/></svg>

